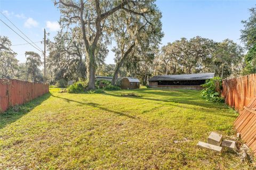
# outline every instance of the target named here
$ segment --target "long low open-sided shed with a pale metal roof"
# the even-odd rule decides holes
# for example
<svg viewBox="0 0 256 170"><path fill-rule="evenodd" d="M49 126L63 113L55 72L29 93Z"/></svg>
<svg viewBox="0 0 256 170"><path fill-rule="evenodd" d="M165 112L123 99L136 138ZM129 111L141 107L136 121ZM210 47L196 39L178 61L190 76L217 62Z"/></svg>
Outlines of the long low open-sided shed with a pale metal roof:
<svg viewBox="0 0 256 170"><path fill-rule="evenodd" d="M149 79L149 87L201 90L203 89L201 85L205 83L205 80L212 79L213 77L214 73L156 75Z"/></svg>

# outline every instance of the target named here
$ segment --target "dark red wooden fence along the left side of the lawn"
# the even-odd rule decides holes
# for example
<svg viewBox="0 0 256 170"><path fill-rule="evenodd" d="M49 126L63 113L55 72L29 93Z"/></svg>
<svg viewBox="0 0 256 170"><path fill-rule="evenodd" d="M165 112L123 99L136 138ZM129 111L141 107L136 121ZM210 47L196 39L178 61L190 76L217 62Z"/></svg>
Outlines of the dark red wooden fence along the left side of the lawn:
<svg viewBox="0 0 256 170"><path fill-rule="evenodd" d="M49 84L0 79L0 113L49 92Z"/></svg>

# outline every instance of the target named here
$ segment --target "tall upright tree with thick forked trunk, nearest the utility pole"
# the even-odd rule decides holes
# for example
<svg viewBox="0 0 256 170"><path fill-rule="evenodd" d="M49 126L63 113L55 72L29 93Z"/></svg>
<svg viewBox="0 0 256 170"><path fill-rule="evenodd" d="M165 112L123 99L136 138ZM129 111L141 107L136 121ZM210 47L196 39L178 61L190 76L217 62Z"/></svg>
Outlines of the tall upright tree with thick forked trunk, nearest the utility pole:
<svg viewBox="0 0 256 170"><path fill-rule="evenodd" d="M120 10L125 13L138 15L140 18L147 19L151 7L155 6L154 1L55 1L61 12L60 23L62 29L70 27L79 27L82 33L82 39L85 46L85 55L87 62L87 79L89 80L89 89L95 88L95 69L97 48L99 49L99 40L103 44L108 44L111 33L111 27L117 24L118 17L114 14ZM122 17L122 16L121 16ZM134 25L136 28L137 25Z"/></svg>

